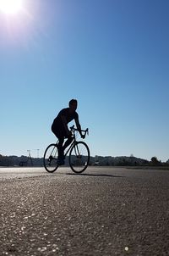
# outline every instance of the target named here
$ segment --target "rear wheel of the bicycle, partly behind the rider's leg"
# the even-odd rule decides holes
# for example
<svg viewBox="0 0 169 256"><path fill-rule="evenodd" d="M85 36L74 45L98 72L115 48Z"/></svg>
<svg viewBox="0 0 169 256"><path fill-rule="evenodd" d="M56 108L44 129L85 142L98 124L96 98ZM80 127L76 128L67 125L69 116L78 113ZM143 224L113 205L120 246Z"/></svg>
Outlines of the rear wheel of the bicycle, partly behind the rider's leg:
<svg viewBox="0 0 169 256"><path fill-rule="evenodd" d="M43 165L48 172L54 172L57 170L58 164L58 148L57 144L50 144L46 147L46 151L43 157Z"/></svg>

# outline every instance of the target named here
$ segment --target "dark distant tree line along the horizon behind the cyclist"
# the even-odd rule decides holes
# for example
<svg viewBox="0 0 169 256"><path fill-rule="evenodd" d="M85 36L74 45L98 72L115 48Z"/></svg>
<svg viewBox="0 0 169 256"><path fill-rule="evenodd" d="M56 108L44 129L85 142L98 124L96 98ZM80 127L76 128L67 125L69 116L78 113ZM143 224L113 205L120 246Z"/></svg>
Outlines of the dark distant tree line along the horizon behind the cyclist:
<svg viewBox="0 0 169 256"><path fill-rule="evenodd" d="M68 165L68 157L65 161ZM169 159L166 163L162 163L156 157L152 157L150 161L139 159L131 155L130 157L90 157L90 165L92 166L169 166ZM26 156L3 156L0 154L0 166L43 166L42 158L29 158Z"/></svg>

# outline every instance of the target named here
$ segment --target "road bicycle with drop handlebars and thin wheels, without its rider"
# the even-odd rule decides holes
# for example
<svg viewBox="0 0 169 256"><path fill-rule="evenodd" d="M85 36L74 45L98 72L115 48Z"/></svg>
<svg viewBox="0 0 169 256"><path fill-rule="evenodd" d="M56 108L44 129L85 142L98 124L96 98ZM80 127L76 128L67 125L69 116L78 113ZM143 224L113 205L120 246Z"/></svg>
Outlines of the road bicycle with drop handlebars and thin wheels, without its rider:
<svg viewBox="0 0 169 256"><path fill-rule="evenodd" d="M74 137L71 144L66 149L66 153L64 156L66 157L69 152L68 156L68 163L75 173L82 173L88 167L90 162L90 149L85 142L77 141L77 131L78 129L74 128L74 125L70 127L70 131ZM81 130L84 132L84 137L89 135L89 129ZM48 147L46 147L46 151L43 157L43 164L48 172L54 172L57 170L58 164L58 141L57 143L52 143Z"/></svg>

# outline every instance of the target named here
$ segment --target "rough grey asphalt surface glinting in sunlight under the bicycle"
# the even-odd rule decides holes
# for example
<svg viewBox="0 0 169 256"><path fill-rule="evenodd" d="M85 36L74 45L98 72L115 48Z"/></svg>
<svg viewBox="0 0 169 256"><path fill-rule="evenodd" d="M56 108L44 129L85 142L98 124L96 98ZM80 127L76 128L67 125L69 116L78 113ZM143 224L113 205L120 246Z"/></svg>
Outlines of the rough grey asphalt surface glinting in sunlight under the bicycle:
<svg viewBox="0 0 169 256"><path fill-rule="evenodd" d="M0 255L169 255L169 171L0 168Z"/></svg>

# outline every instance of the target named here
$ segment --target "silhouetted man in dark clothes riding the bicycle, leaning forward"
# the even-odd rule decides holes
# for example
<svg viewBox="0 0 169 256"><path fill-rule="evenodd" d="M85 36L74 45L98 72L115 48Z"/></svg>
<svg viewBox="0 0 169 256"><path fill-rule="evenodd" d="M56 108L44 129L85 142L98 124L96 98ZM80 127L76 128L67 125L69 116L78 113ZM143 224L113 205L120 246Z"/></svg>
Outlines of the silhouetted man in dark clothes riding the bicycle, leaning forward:
<svg viewBox="0 0 169 256"><path fill-rule="evenodd" d="M76 112L78 102L76 99L71 99L68 103L68 108L62 109L52 123L52 132L58 138L58 164L64 164L64 149L73 141L72 133L68 130L68 123L75 121L79 134L82 138L81 125L79 124L79 114ZM64 143L64 139L68 140Z"/></svg>

